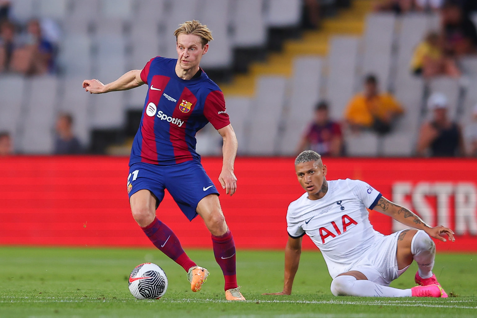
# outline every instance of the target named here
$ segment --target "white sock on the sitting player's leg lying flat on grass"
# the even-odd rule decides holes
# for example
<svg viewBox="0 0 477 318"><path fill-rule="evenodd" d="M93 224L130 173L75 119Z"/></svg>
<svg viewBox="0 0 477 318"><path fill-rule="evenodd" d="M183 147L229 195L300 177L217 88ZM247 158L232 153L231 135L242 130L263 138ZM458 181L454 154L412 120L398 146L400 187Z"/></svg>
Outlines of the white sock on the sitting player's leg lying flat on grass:
<svg viewBox="0 0 477 318"><path fill-rule="evenodd" d="M411 289L399 289L378 285L370 280L357 280L356 277L342 275L333 279L331 292L334 296L362 297L411 297Z"/></svg>

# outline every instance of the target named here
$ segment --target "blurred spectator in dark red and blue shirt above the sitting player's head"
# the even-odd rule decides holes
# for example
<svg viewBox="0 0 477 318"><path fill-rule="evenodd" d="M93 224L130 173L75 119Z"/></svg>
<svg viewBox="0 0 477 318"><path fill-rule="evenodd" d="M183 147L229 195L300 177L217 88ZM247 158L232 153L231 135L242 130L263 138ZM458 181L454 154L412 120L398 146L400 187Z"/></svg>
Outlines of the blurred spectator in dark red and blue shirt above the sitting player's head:
<svg viewBox="0 0 477 318"><path fill-rule="evenodd" d="M321 101L315 107L315 118L301 138L297 154L308 149L326 156L339 156L342 147L340 124L330 120L328 103Z"/></svg>

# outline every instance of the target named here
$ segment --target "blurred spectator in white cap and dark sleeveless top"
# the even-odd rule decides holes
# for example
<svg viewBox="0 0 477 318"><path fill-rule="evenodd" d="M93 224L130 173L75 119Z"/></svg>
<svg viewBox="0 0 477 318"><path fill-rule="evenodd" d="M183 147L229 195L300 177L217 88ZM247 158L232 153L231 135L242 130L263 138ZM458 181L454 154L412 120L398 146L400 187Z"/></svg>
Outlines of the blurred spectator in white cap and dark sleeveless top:
<svg viewBox="0 0 477 318"><path fill-rule="evenodd" d="M432 157L455 157L465 154L462 130L447 117L446 95L433 93L427 102L432 111L430 122L423 123L417 141L417 155L430 154Z"/></svg>

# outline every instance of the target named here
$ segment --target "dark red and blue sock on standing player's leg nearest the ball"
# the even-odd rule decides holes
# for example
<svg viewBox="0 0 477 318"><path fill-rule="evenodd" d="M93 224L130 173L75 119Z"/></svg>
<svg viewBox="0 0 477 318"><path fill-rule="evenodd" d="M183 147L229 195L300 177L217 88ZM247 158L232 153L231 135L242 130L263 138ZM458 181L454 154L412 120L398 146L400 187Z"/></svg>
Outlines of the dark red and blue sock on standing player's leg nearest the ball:
<svg viewBox="0 0 477 318"><path fill-rule="evenodd" d="M141 228L143 229L145 235L149 237L151 242L161 252L182 266L186 272L190 267L197 265L189 258L189 256L187 256L174 232L172 232L169 226L166 226L164 223L159 221L157 217L154 218L154 221L152 221L151 224Z"/></svg>

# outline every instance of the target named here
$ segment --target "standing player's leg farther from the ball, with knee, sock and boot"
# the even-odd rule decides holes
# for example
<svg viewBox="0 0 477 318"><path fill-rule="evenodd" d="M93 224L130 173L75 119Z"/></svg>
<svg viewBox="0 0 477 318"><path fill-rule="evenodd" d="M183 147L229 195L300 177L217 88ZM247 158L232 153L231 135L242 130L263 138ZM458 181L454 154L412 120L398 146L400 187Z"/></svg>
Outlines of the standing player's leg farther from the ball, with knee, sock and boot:
<svg viewBox="0 0 477 318"><path fill-rule="evenodd" d="M197 213L212 236L215 260L222 269L227 300L245 300L237 285L235 242L228 229L217 195L207 195L197 204Z"/></svg>

